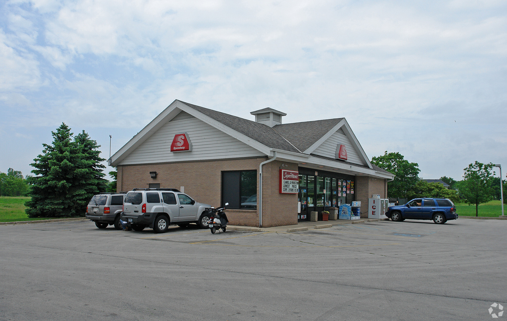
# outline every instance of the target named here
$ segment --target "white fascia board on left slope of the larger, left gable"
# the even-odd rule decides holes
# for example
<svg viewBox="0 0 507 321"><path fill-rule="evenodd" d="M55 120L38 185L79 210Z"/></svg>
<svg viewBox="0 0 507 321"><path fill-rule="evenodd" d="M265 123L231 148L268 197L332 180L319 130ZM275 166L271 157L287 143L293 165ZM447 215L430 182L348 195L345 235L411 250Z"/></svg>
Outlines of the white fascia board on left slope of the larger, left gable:
<svg viewBox="0 0 507 321"><path fill-rule="evenodd" d="M176 116L181 110L177 108L177 100L174 100L167 108L165 108L160 114L158 114L153 121L151 121L146 127L144 127L139 133L137 133L132 139L130 139L122 148L108 159L108 165L117 166L123 158L127 157L132 151L134 151L140 144L152 136L158 131L164 124L169 122L174 116Z"/></svg>

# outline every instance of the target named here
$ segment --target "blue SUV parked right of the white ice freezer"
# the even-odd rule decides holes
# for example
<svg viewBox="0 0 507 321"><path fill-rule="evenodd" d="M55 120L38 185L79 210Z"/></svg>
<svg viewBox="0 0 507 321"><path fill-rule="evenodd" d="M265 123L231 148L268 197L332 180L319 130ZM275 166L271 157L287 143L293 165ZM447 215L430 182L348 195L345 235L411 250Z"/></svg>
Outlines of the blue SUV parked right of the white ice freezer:
<svg viewBox="0 0 507 321"><path fill-rule="evenodd" d="M448 198L415 198L405 205L391 206L385 214L391 221L433 220L435 224L444 224L458 218L456 207Z"/></svg>

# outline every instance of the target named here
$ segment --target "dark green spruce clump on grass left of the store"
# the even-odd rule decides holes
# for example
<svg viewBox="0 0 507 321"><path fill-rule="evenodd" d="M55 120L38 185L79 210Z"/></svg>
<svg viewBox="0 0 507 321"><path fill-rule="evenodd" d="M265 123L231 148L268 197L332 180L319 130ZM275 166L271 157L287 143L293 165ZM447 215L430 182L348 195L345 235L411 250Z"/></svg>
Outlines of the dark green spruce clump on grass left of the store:
<svg viewBox="0 0 507 321"><path fill-rule="evenodd" d="M84 214L90 198L105 191L104 159L99 145L84 131L73 139L70 128L57 128L51 145L30 164L37 175L29 177L31 200L25 203L28 217L69 217Z"/></svg>

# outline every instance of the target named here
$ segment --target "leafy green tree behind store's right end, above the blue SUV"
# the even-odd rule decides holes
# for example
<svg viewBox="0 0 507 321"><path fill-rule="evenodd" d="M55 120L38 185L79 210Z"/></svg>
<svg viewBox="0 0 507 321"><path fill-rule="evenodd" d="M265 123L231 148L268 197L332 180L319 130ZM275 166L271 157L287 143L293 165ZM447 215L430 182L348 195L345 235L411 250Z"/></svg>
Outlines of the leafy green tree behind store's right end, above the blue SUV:
<svg viewBox="0 0 507 321"><path fill-rule="evenodd" d="M413 188L419 181L419 165L409 163L399 152L384 152L381 156L373 156L372 164L394 174L394 180L387 183L388 197L409 198Z"/></svg>

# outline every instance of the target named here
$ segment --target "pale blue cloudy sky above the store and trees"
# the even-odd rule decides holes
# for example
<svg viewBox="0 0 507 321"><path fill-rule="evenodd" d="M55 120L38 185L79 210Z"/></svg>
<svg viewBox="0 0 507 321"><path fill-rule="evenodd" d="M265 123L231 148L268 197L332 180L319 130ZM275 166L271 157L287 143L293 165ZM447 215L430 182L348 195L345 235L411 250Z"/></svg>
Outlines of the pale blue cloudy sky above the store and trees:
<svg viewBox="0 0 507 321"><path fill-rule="evenodd" d="M346 117L422 178L507 171L507 2L2 1L0 171L62 122L102 157L174 99L284 123Z"/></svg>

